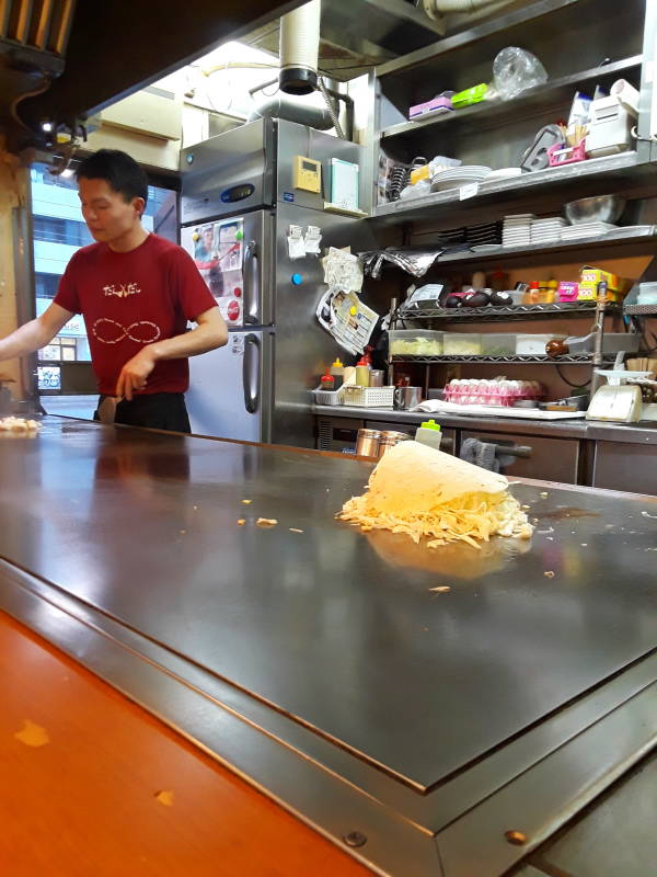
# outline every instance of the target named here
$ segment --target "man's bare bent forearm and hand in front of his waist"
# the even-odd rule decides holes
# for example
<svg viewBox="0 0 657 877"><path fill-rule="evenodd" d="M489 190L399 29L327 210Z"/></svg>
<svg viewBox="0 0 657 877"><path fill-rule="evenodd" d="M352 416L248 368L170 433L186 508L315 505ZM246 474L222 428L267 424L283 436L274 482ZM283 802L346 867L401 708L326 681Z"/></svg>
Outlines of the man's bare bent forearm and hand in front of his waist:
<svg viewBox="0 0 657 877"><path fill-rule="evenodd" d="M228 342L228 328L218 307L204 311L196 318L196 328L183 335L166 338L147 344L136 356L124 365L118 376L116 395L132 398L135 390L141 390L146 380L160 360L182 360L197 356Z"/></svg>

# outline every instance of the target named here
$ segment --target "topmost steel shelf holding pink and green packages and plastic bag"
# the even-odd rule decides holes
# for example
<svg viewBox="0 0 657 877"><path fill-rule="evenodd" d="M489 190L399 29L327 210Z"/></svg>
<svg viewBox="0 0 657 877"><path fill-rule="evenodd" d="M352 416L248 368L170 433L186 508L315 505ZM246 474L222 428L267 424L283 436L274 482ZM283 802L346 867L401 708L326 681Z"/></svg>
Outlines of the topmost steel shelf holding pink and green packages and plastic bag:
<svg viewBox="0 0 657 877"><path fill-rule="evenodd" d="M470 119L475 119L477 125L487 118L499 118L503 115L517 116L519 112L529 110L530 107L546 105L558 99L570 100L573 98L573 87L601 80L618 79L618 75L626 70L641 67L643 62L642 55L632 55L629 58L623 58L613 64L608 64L601 67L591 67L588 70L580 70L577 73L561 77L548 81L542 86L527 89L517 98L509 101L482 101L474 106L463 107L462 110L454 110L453 112L443 115L434 116L433 118L423 119L422 117L414 122L402 122L397 125L392 125L381 132L381 140L390 140L392 138L412 138L416 133L424 132L435 125L458 125L460 123L468 123Z"/></svg>

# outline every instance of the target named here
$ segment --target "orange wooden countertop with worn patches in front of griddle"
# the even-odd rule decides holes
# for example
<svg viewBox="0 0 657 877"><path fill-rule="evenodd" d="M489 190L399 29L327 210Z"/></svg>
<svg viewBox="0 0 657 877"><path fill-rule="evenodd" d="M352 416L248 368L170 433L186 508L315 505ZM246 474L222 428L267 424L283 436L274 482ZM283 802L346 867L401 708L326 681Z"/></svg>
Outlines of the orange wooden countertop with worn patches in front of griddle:
<svg viewBox="0 0 657 877"><path fill-rule="evenodd" d="M0 691L2 875L370 873L2 612Z"/></svg>

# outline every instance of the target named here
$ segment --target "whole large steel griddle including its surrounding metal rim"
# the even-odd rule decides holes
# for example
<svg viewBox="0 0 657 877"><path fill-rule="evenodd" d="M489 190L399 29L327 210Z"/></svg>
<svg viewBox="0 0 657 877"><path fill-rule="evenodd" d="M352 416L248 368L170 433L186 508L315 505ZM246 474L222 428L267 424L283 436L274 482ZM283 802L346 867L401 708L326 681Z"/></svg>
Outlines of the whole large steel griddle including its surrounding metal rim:
<svg viewBox="0 0 657 877"><path fill-rule="evenodd" d="M588 765L608 782L645 752L646 728L619 710L655 708L657 502L516 483L531 543L431 551L335 519L370 471L45 419L37 437L0 443L0 605L381 873L480 873L451 862L457 827L488 799L502 812L496 795L558 756L543 829L522 844L491 829L504 870L567 818L567 745L630 722L627 751ZM35 600L66 624L39 623ZM274 770L281 752L291 767ZM355 802L341 816L343 795ZM362 828L364 808L380 829Z"/></svg>

